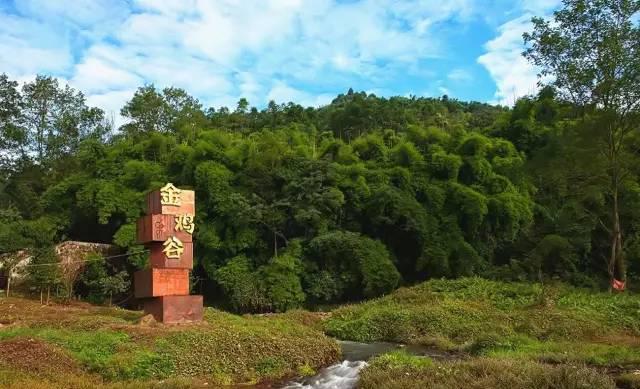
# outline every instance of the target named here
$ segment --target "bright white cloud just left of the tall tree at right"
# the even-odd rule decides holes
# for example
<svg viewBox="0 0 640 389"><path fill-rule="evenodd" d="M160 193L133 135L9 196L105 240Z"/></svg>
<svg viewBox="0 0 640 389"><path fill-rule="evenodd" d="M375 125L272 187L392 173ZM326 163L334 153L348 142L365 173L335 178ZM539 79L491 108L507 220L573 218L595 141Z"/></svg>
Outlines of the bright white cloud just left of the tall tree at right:
<svg viewBox="0 0 640 389"><path fill-rule="evenodd" d="M504 23L498 36L485 44L487 52L478 57L496 82L496 103L512 105L538 89L537 70L522 56L522 34L531 29L530 19L530 15L524 15Z"/></svg>

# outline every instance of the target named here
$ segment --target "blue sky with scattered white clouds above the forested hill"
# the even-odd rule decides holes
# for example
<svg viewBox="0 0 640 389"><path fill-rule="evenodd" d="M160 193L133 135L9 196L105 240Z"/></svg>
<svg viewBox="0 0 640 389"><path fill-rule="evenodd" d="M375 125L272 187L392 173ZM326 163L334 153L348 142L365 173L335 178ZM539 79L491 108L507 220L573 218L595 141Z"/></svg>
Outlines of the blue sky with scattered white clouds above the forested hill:
<svg viewBox="0 0 640 389"><path fill-rule="evenodd" d="M0 0L0 72L48 74L117 119L145 83L205 106L328 103L336 94L511 104L535 92L520 56L559 0Z"/></svg>

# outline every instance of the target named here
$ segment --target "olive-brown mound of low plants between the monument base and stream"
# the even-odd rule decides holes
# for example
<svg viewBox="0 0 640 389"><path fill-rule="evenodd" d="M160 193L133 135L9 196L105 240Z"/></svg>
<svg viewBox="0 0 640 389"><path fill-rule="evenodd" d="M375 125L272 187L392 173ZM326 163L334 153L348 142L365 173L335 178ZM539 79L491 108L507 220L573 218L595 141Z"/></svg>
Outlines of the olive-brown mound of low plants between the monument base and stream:
<svg viewBox="0 0 640 389"><path fill-rule="evenodd" d="M282 317L240 317L207 309L206 329L174 331L159 339L164 358L186 376L220 383L296 375L335 361L337 345L318 331ZM189 350L189 352L184 352Z"/></svg>

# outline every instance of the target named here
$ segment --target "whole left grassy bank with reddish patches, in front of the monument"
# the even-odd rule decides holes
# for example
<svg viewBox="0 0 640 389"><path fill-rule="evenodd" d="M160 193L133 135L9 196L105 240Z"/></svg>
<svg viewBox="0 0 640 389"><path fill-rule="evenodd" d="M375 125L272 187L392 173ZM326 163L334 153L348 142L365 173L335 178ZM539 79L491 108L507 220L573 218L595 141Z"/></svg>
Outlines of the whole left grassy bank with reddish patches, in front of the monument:
<svg viewBox="0 0 640 389"><path fill-rule="evenodd" d="M287 316L207 309L204 323L181 326L136 324L140 317L88 304L41 307L0 298L0 386L251 383L312 374L339 357L334 341Z"/></svg>

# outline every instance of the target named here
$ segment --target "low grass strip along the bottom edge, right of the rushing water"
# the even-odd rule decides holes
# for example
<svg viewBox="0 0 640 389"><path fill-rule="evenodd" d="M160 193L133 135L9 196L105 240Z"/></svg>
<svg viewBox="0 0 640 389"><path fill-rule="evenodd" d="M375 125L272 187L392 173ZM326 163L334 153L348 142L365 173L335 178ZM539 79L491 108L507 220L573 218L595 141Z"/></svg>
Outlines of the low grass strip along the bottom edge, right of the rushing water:
<svg viewBox="0 0 640 389"><path fill-rule="evenodd" d="M373 359L361 373L361 389L613 389L613 380L584 366L476 358L433 362L394 353Z"/></svg>

